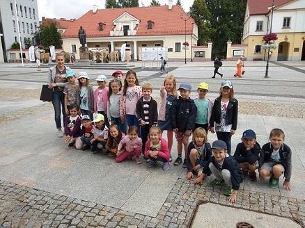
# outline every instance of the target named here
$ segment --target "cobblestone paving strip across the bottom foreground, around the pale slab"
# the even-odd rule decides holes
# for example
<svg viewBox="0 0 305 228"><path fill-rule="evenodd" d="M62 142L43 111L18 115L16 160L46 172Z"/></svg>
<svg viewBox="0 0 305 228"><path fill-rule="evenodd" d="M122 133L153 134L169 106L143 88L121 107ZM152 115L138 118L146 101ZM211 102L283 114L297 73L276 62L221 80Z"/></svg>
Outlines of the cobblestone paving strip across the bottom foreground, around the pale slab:
<svg viewBox="0 0 305 228"><path fill-rule="evenodd" d="M199 200L305 222L305 200L240 190L237 203L221 188L178 179L156 218L0 181L0 227L187 227Z"/></svg>

